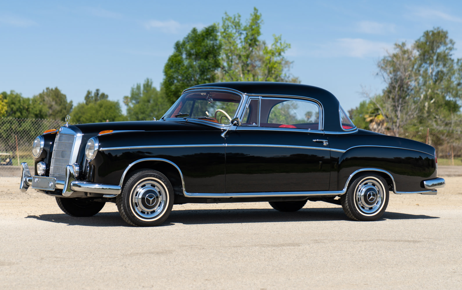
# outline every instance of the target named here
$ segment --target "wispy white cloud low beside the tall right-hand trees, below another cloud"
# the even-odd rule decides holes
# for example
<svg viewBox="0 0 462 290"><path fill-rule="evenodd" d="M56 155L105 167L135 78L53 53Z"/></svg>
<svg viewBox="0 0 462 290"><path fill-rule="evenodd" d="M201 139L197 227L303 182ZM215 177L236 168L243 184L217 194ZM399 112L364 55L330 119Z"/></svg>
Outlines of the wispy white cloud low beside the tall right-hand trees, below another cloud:
<svg viewBox="0 0 462 290"><path fill-rule="evenodd" d="M386 50L393 48L393 45L386 42L370 41L362 38L340 38L337 39L334 52L341 56L366 57L383 56Z"/></svg>

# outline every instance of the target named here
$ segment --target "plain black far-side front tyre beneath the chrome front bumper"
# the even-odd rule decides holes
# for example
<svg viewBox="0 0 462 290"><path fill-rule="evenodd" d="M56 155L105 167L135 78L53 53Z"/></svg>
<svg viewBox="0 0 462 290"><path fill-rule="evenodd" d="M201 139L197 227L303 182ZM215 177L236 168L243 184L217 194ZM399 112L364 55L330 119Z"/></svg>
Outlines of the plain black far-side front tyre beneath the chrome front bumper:
<svg viewBox="0 0 462 290"><path fill-rule="evenodd" d="M56 197L56 203L64 213L71 217L92 217L103 209L105 202L89 199L70 199Z"/></svg>

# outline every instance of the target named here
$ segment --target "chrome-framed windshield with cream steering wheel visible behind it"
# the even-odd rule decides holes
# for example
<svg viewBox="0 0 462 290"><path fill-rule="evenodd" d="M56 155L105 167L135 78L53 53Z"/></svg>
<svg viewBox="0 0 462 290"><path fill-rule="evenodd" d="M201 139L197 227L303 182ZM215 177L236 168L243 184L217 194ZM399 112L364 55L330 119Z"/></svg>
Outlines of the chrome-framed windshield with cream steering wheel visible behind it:
<svg viewBox="0 0 462 290"><path fill-rule="evenodd" d="M241 96L229 92L186 92L162 118L193 118L229 125L240 102Z"/></svg>

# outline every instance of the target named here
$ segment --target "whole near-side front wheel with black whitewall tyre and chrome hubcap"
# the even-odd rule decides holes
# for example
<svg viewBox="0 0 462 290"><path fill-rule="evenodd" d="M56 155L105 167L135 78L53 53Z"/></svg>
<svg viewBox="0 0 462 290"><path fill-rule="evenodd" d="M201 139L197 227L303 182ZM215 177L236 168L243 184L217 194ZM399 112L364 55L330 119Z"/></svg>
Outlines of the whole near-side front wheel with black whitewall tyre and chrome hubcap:
<svg viewBox="0 0 462 290"><path fill-rule="evenodd" d="M173 187L162 173L135 171L116 198L123 220L139 227L157 226L168 218L173 207Z"/></svg>

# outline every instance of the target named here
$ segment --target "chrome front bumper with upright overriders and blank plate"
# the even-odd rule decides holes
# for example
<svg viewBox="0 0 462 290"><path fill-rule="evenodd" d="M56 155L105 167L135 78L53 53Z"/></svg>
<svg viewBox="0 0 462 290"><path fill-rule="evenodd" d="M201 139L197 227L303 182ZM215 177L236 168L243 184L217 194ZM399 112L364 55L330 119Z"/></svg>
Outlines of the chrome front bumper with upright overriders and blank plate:
<svg viewBox="0 0 462 290"><path fill-rule="evenodd" d="M26 191L27 188L32 187L40 191L48 191L50 195L57 195L62 197L82 197L86 193L99 193L103 197L111 198L122 192L122 187L112 184L100 184L87 181L78 181L75 176L78 175L77 166L66 166L65 180L57 180L55 177L46 176L32 176L30 174L29 166L27 163L21 163L21 183L19 188ZM55 192L56 189L62 189Z"/></svg>

